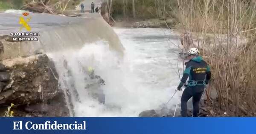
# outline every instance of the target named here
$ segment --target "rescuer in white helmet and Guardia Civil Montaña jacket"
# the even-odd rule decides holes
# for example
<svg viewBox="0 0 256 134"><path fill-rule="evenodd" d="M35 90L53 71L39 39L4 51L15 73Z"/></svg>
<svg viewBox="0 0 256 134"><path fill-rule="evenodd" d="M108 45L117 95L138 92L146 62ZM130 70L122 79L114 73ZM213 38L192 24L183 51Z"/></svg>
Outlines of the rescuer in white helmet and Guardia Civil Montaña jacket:
<svg viewBox="0 0 256 134"><path fill-rule="evenodd" d="M181 96L181 116L187 117L187 102L192 97L193 101L193 117L198 117L199 102L204 93L205 86L211 79L211 71L209 65L198 55L197 48L191 48L188 51L188 60L186 63L186 69L181 79L177 90L180 91L181 87L186 83L187 78L188 85L186 86Z"/></svg>

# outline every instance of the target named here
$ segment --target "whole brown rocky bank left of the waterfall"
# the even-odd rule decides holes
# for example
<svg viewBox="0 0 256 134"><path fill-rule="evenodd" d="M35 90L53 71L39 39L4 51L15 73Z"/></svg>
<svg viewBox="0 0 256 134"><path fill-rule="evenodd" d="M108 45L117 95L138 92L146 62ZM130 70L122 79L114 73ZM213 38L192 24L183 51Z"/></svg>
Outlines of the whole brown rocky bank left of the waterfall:
<svg viewBox="0 0 256 134"><path fill-rule="evenodd" d="M58 74L47 55L6 59L0 65L0 116L11 103L18 117L69 116Z"/></svg>

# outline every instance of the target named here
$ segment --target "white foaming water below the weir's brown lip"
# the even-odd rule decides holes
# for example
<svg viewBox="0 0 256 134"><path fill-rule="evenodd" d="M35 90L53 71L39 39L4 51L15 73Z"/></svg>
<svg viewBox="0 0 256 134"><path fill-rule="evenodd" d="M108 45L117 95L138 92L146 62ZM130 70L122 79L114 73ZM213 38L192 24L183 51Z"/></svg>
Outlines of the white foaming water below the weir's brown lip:
<svg viewBox="0 0 256 134"><path fill-rule="evenodd" d="M55 62L61 88L70 90L77 117L137 117L144 110L160 108L160 105L165 104L179 83L178 49L172 44L178 41L172 31L115 31L126 49L123 58L110 51L108 43L103 40L86 44L79 51L48 54ZM102 86L105 105L88 96L84 89L87 84L84 79L88 74L83 68L88 66L92 66L95 74L106 82ZM180 65L179 69L181 71ZM71 76L67 70L70 70ZM79 93L80 102L76 101L74 88ZM180 93L177 93L168 104L169 108L178 103L179 99Z"/></svg>

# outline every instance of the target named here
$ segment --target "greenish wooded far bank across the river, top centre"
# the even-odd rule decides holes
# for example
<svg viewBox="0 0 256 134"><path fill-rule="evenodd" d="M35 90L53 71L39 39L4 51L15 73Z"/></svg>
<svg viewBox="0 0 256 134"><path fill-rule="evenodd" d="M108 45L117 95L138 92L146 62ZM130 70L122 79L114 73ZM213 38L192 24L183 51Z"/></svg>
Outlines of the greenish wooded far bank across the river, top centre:
<svg viewBox="0 0 256 134"><path fill-rule="evenodd" d="M132 0L113 0L112 16L125 18L133 16ZM152 19L175 17L173 10L177 6L176 0L134 0L137 19Z"/></svg>

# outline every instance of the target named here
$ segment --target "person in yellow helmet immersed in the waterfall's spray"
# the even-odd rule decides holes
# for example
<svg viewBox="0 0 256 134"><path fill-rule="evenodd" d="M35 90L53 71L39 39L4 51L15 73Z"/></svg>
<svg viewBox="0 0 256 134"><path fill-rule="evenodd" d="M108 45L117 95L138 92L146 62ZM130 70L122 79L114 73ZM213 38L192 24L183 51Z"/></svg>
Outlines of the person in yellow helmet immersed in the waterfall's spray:
<svg viewBox="0 0 256 134"><path fill-rule="evenodd" d="M96 75L92 67L88 68L88 74L90 80L93 82L87 84L85 88L89 89L88 92L93 98L97 98L100 103L105 104L105 94L101 88L101 86L105 85L105 80L103 80L99 75Z"/></svg>

